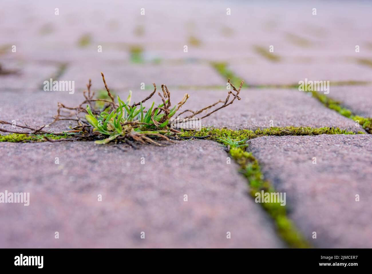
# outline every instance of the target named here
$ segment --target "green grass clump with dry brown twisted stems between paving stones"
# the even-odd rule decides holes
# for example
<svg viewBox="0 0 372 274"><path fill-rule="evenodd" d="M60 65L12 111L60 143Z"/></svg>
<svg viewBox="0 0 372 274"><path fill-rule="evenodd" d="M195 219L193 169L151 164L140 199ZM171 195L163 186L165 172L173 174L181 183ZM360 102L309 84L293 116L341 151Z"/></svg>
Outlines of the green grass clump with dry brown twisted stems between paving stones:
<svg viewBox="0 0 372 274"><path fill-rule="evenodd" d="M83 92L85 100L80 105L77 107L67 107L62 103L58 103L57 115L48 126L59 120L76 121L77 125L71 127L71 130L68 130L67 132L50 133L43 130L46 125L38 128L17 125L17 127L28 129L29 132L16 132L3 128L0 128L0 131L37 135L36 138L44 141L94 140L97 144L106 144L115 140L116 142L124 142L132 146L134 144L133 142L161 145L155 140L165 139L171 141L171 139L178 139L178 136L182 134L182 132L177 130L175 126L182 125L182 123L187 123L190 120L192 121L196 115L215 107L204 116L198 118L203 119L221 108L232 104L235 99L240 100L239 93L244 83L244 81L242 81L240 87L237 89L230 83L229 79L228 83L230 83L233 91L228 91L227 98L224 101L219 100L214 104L208 105L207 107L201 108L197 111L188 109L181 111L180 108L186 103L189 95L185 94L179 103L172 106L171 94L167 86L164 84L161 85L163 94L158 92L159 97L163 101L162 104L155 105L155 102L153 102L149 108L144 105L144 103L155 94L155 83L153 83L154 91L144 100L131 104L132 92L129 91L128 98L125 102L118 96L118 103L116 103L115 98L106 84L105 76L102 72L101 75L107 92L106 98L93 98L94 92L90 91L92 84L89 80L87 90ZM96 108L97 105L93 104L97 102L103 103L103 106L100 105L99 109ZM217 107L216 105L220 103L222 105ZM65 110L68 110L67 115L62 113ZM72 110L75 111L75 117L71 117ZM81 116L82 113L85 115ZM173 120L177 121L177 125L173 125ZM5 121L0 121L0 123L12 125L12 123ZM52 140L49 138L50 136L46 136L45 134L61 137L58 140Z"/></svg>

